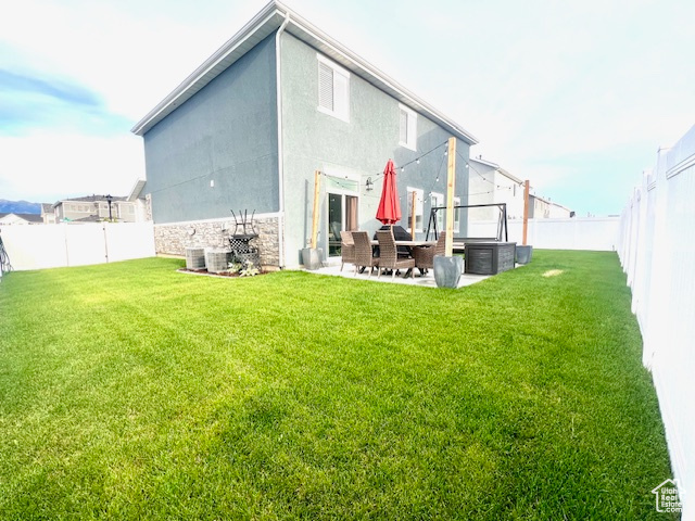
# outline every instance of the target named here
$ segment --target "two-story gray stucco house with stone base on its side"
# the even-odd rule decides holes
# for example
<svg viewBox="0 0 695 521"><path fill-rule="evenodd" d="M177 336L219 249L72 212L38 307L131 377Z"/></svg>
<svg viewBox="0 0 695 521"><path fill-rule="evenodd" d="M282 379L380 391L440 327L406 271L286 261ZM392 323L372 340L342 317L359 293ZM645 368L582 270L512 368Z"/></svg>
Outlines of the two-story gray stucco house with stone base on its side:
<svg viewBox="0 0 695 521"><path fill-rule="evenodd" d="M230 209L255 211L262 264L288 268L301 264L309 239L315 170L323 173L318 245L329 255L338 229L380 226L375 215L389 158L405 166L397 176L402 225L409 227L415 192L421 236L430 205L441 204L446 192L442 158L452 136L459 156L457 201L466 204L465 163L477 143L276 1L132 131L144 141L140 193L151 205L159 252L223 245L233 231Z"/></svg>

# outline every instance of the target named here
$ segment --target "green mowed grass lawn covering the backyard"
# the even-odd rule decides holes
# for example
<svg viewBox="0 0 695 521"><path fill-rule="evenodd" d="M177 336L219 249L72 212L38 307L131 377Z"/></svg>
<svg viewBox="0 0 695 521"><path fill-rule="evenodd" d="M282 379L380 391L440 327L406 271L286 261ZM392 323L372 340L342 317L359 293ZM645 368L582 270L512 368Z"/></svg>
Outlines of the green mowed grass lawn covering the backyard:
<svg viewBox="0 0 695 521"><path fill-rule="evenodd" d="M181 265L2 278L0 519L665 519L615 254L456 291Z"/></svg>

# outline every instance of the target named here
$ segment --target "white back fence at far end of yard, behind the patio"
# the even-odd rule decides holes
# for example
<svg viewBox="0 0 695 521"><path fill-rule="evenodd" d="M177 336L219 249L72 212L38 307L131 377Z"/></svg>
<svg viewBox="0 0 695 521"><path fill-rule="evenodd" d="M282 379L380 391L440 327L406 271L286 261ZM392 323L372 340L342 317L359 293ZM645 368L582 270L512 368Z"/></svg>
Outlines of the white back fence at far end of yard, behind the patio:
<svg viewBox="0 0 695 521"><path fill-rule="evenodd" d="M522 243L523 221L508 221L509 241ZM496 237L497 221L468 223L468 237ZM527 243L544 250L617 250L620 217L572 217L567 219L529 219Z"/></svg>

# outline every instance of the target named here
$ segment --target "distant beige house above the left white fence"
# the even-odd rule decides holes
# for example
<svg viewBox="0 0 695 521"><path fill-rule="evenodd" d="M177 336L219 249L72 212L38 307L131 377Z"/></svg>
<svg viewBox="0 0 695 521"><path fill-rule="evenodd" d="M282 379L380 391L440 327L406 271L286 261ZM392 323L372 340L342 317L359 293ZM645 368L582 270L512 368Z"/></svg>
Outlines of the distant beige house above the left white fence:
<svg viewBox="0 0 695 521"><path fill-rule="evenodd" d="M127 201L126 198L87 195L59 201L53 204L53 209L56 223L96 223L110 219L135 223L136 206L136 203Z"/></svg>

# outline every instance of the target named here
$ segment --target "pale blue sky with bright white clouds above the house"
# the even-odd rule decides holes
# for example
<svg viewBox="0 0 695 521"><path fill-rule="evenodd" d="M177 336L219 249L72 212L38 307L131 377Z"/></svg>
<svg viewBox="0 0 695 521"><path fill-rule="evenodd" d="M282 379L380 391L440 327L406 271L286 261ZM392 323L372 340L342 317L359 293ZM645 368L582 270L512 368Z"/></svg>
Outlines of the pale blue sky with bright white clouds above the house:
<svg viewBox="0 0 695 521"><path fill-rule="evenodd" d="M619 213L695 124L691 0L286 3L476 136L471 155L578 215ZM127 194L144 177L132 125L264 4L8 3L0 199Z"/></svg>

